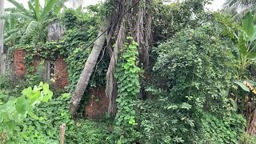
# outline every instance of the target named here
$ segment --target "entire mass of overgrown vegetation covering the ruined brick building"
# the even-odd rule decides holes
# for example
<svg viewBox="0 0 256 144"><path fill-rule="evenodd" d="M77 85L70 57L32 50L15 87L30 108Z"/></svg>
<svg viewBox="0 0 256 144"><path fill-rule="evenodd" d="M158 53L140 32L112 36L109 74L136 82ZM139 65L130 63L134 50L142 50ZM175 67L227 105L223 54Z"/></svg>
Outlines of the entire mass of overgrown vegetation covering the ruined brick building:
<svg viewBox="0 0 256 144"><path fill-rule="evenodd" d="M208 0L110 0L77 10L61 10L61 0L44 8L29 1L29 10L8 1L16 6L0 16L8 58L22 48L27 73L0 75L0 143L59 143L63 123L65 143L255 143L256 30L247 6L240 25L225 9L206 11ZM65 34L46 42L55 19ZM102 22L110 26L101 35ZM81 75L91 55L95 68ZM64 90L51 85L58 73L42 83L44 70L33 66L60 57L69 74ZM78 81L88 77L78 114L70 114ZM93 122L84 117L89 89L103 86L109 110Z"/></svg>

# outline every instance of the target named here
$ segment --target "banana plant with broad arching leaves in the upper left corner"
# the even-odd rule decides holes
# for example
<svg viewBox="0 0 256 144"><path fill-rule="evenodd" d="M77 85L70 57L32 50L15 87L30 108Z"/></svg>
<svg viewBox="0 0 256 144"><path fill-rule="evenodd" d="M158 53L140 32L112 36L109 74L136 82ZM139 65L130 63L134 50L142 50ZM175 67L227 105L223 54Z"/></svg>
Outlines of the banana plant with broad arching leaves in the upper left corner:
<svg viewBox="0 0 256 144"><path fill-rule="evenodd" d="M5 19L12 27L12 30L7 30L7 40L13 38L12 34L15 30L23 31L21 42L45 42L47 35L47 26L64 6L66 0L45 0L45 5L42 7L39 0L30 0L28 2L29 9L26 9L21 3L15 0L7 0L12 3L15 8L12 11L7 11L6 14L0 16ZM8 34L10 33L10 34Z"/></svg>

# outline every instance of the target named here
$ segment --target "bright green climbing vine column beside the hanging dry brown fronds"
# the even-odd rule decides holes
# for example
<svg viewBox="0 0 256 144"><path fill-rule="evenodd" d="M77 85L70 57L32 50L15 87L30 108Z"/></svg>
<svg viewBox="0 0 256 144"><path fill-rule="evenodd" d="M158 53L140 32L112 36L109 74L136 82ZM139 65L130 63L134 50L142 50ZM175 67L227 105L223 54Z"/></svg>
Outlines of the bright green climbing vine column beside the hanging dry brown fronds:
<svg viewBox="0 0 256 144"><path fill-rule="evenodd" d="M140 90L138 64L138 44L128 37L121 50L116 67L115 77L118 79L118 126L137 125L135 122L134 100Z"/></svg>

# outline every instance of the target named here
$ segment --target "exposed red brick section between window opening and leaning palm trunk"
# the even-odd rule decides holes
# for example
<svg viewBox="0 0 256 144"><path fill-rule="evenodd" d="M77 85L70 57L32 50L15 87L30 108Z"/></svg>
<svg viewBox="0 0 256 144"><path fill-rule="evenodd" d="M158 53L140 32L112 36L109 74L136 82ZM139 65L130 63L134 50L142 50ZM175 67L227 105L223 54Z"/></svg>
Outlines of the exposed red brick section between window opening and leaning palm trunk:
<svg viewBox="0 0 256 144"><path fill-rule="evenodd" d="M62 57L59 57L55 62L55 74L57 75L54 86L60 89L64 89L65 86L68 86L69 74L66 69L66 62Z"/></svg>

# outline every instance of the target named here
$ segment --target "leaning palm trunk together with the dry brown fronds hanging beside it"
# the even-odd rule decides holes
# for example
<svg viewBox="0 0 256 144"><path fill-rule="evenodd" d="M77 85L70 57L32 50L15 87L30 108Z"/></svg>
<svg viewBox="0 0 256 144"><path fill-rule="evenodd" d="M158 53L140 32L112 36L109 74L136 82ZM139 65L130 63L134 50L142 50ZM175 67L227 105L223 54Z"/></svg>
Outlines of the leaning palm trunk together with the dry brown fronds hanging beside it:
<svg viewBox="0 0 256 144"><path fill-rule="evenodd" d="M134 41L138 43L141 66L146 68L149 65L149 47L151 42L150 3L151 0L114 1L114 9L110 13L111 26L106 37L106 46L110 54L110 66L106 74L106 97L110 101L109 113L111 114L115 114L116 109L117 82L114 78L115 64L118 58L118 50L121 50L126 36L132 36ZM98 45L98 42L94 43L98 54L100 54L104 43L101 44ZM113 45L114 50L112 49ZM98 50L98 48L101 48L101 50ZM94 52L95 50L93 48L71 98L70 112L72 114L75 114L76 110L78 110L78 104L80 103L82 94L86 90L91 71L94 69L98 59L98 54L93 54ZM96 57L91 58L93 55Z"/></svg>

